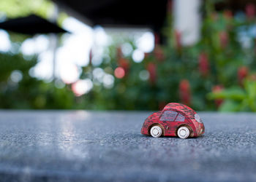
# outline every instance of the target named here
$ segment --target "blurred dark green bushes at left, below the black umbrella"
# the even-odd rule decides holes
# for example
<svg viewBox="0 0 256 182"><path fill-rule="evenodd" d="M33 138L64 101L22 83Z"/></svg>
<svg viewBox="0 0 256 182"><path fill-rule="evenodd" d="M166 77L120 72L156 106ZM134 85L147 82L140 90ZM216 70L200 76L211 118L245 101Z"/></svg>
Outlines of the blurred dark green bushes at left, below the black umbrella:
<svg viewBox="0 0 256 182"><path fill-rule="evenodd" d="M20 54L0 54L0 107L72 108L75 97L67 86L59 89L29 75L36 63Z"/></svg>

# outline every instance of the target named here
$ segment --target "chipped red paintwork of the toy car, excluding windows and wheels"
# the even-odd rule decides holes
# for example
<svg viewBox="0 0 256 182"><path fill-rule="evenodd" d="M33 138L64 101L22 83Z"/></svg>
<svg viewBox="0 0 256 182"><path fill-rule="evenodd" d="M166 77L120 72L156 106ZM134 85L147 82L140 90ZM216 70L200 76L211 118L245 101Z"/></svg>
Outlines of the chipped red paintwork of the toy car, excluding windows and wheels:
<svg viewBox="0 0 256 182"><path fill-rule="evenodd" d="M181 114L185 117L184 122L176 122L178 114L176 115L176 119L174 121L160 121L162 114L165 111L176 111L178 114ZM168 103L162 111L155 112L148 116L148 118L143 123L143 127L141 128L141 133L143 135L150 135L150 129L154 124L159 124L163 129L164 136L176 136L176 132L179 127L187 126L189 127L191 134L190 137L198 137L203 135L205 132L205 127L203 122L197 122L195 119L195 114L197 114L192 108L189 106L185 106L181 103Z"/></svg>

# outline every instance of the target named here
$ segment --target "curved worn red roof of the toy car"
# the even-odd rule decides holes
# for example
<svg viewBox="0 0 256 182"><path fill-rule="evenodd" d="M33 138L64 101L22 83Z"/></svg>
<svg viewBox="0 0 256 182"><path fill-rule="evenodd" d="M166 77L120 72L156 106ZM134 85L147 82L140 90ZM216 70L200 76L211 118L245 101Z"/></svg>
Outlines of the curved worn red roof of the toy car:
<svg viewBox="0 0 256 182"><path fill-rule="evenodd" d="M192 108L189 108L189 106L186 106L182 103L168 103L165 108L162 109L162 111L169 110L169 109L175 109L176 111L179 111L183 114L186 114L189 117L194 118L195 111Z"/></svg>

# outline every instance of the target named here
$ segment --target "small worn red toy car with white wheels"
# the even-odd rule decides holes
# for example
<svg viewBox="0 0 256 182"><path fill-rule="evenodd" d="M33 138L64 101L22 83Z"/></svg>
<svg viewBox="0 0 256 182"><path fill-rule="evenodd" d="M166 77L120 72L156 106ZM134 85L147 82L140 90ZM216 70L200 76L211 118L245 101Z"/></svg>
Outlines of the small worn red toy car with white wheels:
<svg viewBox="0 0 256 182"><path fill-rule="evenodd" d="M179 138L203 135L205 127L200 116L181 103L168 103L162 111L148 116L141 133L153 137L178 136Z"/></svg>

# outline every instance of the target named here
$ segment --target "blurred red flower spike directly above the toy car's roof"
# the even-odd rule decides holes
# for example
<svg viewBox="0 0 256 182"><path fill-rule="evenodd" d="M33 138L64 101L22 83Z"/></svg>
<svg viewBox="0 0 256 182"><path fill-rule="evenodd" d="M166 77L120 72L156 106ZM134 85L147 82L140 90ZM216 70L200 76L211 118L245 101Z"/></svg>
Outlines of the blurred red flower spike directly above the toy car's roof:
<svg viewBox="0 0 256 182"><path fill-rule="evenodd" d="M179 84L179 96L181 99L181 103L184 103L190 106L191 103L191 91L190 91L190 84L187 79L182 79Z"/></svg>

